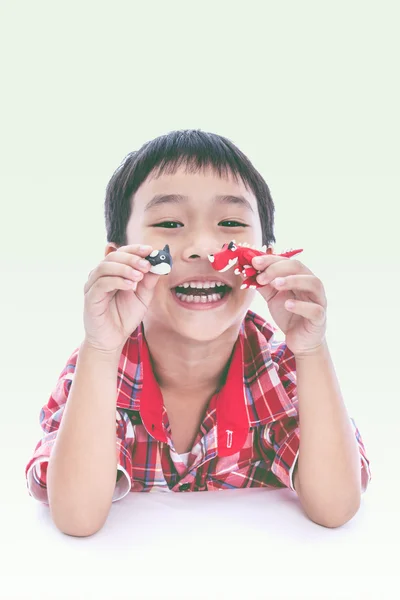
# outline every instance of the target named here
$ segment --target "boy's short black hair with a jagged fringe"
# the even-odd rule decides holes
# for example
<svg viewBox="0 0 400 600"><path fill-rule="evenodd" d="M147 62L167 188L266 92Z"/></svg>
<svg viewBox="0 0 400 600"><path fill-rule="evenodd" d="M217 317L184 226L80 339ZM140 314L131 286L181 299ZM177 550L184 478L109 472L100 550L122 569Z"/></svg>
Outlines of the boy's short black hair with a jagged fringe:
<svg viewBox="0 0 400 600"><path fill-rule="evenodd" d="M199 129L171 131L130 152L114 171L106 188L104 215L107 242L127 244L127 224L132 210L132 196L153 171L156 175L173 174L181 165L189 172L211 167L220 177L230 173L240 177L257 199L262 228L262 243L276 242L274 203L260 173L233 142L215 133Z"/></svg>

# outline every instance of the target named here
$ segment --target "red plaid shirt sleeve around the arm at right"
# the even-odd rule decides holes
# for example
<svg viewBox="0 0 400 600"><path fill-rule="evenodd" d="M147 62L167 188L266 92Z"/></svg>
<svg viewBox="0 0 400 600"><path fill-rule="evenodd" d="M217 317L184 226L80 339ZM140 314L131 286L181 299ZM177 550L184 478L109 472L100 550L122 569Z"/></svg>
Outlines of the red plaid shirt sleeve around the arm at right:
<svg viewBox="0 0 400 600"><path fill-rule="evenodd" d="M295 491L293 476L300 447L296 361L285 342L275 342L271 348L272 359L276 364L280 381L291 401L292 408L296 409L296 414L284 416L266 426L263 430L261 448L265 448L266 456L272 457L271 472L285 487ZM360 452L361 493L363 494L371 480L370 465L361 434L354 419L349 418Z"/></svg>

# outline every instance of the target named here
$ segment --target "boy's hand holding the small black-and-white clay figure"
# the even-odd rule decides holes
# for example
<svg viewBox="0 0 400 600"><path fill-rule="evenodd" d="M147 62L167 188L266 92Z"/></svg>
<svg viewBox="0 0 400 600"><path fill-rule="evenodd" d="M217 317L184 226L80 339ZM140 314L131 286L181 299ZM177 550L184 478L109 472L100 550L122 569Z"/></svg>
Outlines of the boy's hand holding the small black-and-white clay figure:
<svg viewBox="0 0 400 600"><path fill-rule="evenodd" d="M132 244L110 252L89 273L84 286L85 341L103 352L122 348L142 321L160 275L143 260L152 246Z"/></svg>

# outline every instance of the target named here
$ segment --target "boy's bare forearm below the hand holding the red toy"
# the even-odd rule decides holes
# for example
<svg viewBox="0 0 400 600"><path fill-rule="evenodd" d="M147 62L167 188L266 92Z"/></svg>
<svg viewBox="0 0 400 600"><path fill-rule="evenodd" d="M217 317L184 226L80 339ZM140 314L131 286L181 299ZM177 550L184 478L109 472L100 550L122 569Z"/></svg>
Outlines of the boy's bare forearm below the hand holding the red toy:
<svg viewBox="0 0 400 600"><path fill-rule="evenodd" d="M326 342L296 358L300 446L295 489L315 522L339 526L357 512L360 454Z"/></svg>

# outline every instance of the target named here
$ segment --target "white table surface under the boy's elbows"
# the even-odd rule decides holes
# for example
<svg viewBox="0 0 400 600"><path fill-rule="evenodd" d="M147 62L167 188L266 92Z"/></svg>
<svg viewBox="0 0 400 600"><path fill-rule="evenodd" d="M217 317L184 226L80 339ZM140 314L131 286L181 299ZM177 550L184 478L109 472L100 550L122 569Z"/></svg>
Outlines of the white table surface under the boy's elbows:
<svg viewBox="0 0 400 600"><path fill-rule="evenodd" d="M336 529L288 489L155 492L113 503L86 538L60 533L19 485L3 502L2 599L400 597L398 505L372 483Z"/></svg>

